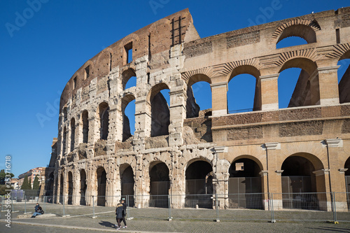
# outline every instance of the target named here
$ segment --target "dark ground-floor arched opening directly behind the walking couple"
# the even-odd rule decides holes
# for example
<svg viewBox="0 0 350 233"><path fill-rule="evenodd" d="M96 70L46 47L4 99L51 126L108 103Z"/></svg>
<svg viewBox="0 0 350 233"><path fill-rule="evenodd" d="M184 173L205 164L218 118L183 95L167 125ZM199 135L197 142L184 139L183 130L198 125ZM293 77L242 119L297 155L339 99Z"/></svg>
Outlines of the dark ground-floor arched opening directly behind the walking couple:
<svg viewBox="0 0 350 233"><path fill-rule="evenodd" d="M122 187L122 197L127 199L129 206L134 206L134 171L129 164L120 166L120 182Z"/></svg>

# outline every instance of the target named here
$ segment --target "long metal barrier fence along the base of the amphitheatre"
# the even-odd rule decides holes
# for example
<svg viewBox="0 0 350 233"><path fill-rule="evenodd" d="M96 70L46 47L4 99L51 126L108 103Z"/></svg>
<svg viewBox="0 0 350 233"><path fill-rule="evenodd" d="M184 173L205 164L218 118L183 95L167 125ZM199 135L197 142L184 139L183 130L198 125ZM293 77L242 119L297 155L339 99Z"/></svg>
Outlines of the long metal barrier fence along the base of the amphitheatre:
<svg viewBox="0 0 350 233"><path fill-rule="evenodd" d="M0 197L1 211L13 218L34 213L36 202L44 214L115 218L121 199L127 204L127 218L197 219L216 221L346 221L350 222L349 192L245 193L214 195L125 195L62 197ZM8 207L10 206L10 207ZM0 213L0 218L4 214Z"/></svg>

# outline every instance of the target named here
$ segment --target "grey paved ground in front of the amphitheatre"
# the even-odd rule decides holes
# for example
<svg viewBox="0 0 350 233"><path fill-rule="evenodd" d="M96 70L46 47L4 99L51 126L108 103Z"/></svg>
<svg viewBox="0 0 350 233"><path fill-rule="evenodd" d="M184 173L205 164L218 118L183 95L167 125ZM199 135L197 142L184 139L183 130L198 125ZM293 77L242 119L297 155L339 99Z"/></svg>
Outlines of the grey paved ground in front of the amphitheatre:
<svg viewBox="0 0 350 233"><path fill-rule="evenodd" d="M62 217L63 211L55 209L59 205L49 207L46 206L46 214L55 211L57 217L18 219L17 216L23 214L23 211L19 211L12 213L11 228L6 227L6 212L1 212L0 232L117 231L113 207L97 206L97 218L92 218L91 210L82 206L66 207L64 213L70 214L69 217ZM221 211L220 223L214 221L215 210L173 209L171 215L173 220L169 221L169 209L131 209L130 216L134 219L127 220L128 228L120 232L350 232L349 212L338 213L339 224L326 223L325 220L332 220L332 213L322 211L276 211L276 223L269 223L269 211L256 210Z"/></svg>

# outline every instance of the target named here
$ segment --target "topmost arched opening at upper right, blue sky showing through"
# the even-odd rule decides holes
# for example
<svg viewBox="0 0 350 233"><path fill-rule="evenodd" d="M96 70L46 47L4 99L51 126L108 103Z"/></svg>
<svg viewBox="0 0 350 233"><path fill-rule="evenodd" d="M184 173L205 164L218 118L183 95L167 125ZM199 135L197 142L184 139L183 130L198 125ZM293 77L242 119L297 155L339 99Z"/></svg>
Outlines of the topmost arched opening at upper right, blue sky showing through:
<svg viewBox="0 0 350 233"><path fill-rule="evenodd" d="M314 22L316 24L316 22ZM292 37L291 40L286 38ZM298 39L295 39L298 38ZM294 45L315 43L316 33L314 29L304 24L294 24L283 29L276 43L276 48L285 48Z"/></svg>

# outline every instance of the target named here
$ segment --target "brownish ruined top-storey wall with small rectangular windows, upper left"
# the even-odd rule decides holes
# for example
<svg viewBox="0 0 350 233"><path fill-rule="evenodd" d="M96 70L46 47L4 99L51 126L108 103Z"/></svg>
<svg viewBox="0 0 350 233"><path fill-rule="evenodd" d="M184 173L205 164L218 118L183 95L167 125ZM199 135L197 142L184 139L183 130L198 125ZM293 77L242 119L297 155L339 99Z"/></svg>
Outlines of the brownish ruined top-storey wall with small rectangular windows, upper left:
<svg viewBox="0 0 350 233"><path fill-rule="evenodd" d="M109 75L109 72L117 66L120 68L127 66L134 69L134 61L148 55L152 69L162 68L164 64L158 63L156 55L169 50L172 46L172 20L177 20L179 17L181 17L181 42L188 42L200 38L193 26L193 18L188 9L164 17L153 24L149 24L125 36L89 59L73 74L73 76L71 76L61 95L60 111L62 111L64 104L76 94L80 87L86 87L94 78L99 79ZM176 22L174 27L176 29ZM178 42L179 37L175 37L174 43L176 44ZM130 43L132 43L132 62L127 63L125 48L128 49ZM89 77L85 78L85 68L87 66L89 66ZM74 78L76 78L75 84Z"/></svg>

